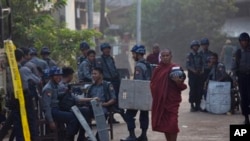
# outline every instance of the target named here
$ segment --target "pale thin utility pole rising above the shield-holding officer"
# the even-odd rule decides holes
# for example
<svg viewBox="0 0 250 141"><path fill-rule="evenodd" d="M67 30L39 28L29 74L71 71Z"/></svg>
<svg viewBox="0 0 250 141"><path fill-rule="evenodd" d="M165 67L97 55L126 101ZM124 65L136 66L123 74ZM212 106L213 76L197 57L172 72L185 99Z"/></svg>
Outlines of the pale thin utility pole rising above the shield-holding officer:
<svg viewBox="0 0 250 141"><path fill-rule="evenodd" d="M141 44L141 0L137 0L136 44Z"/></svg>

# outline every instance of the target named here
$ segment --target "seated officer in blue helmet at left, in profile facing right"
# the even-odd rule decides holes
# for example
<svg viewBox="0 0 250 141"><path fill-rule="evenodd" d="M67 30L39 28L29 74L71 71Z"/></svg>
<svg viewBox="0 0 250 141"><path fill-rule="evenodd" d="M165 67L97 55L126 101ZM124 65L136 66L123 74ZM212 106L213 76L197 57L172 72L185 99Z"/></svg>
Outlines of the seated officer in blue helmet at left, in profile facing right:
<svg viewBox="0 0 250 141"><path fill-rule="evenodd" d="M74 141L74 136L79 129L78 120L72 112L59 109L59 101L64 94L61 93L59 86L61 75L62 70L59 67L50 68L50 80L42 91L42 106L50 128L56 128L55 122L66 123L66 140Z"/></svg>

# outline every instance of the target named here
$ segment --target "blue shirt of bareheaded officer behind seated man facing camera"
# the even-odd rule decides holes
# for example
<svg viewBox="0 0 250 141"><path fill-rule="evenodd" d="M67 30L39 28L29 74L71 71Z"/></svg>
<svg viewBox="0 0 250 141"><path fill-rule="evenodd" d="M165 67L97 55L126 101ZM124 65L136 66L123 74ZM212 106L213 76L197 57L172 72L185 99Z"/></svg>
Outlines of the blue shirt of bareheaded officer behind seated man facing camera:
<svg viewBox="0 0 250 141"><path fill-rule="evenodd" d="M95 62L91 63L88 59L84 60L78 67L78 78L80 82L92 82L92 70L95 67Z"/></svg>

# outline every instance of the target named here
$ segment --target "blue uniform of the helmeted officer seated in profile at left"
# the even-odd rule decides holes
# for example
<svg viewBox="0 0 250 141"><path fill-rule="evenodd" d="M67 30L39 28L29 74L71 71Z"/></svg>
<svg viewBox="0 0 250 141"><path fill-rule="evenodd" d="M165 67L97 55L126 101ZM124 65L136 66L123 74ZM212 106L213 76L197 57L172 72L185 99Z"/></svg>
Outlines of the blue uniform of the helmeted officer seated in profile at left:
<svg viewBox="0 0 250 141"><path fill-rule="evenodd" d="M66 123L66 137L73 137L79 129L79 123L72 112L59 109L60 98L65 94L64 89L61 89L62 87L50 80L42 91L42 106L46 120Z"/></svg>

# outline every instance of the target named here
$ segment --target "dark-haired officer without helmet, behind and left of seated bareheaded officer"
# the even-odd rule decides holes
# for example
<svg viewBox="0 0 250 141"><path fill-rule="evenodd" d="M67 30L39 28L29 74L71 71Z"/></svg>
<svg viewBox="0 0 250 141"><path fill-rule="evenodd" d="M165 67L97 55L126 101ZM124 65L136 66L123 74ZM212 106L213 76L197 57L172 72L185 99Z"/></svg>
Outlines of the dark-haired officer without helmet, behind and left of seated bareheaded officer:
<svg viewBox="0 0 250 141"><path fill-rule="evenodd" d="M90 49L87 52L87 58L82 61L80 66L78 67L78 78L80 82L92 82L91 73L93 68L95 67L95 51Z"/></svg>

